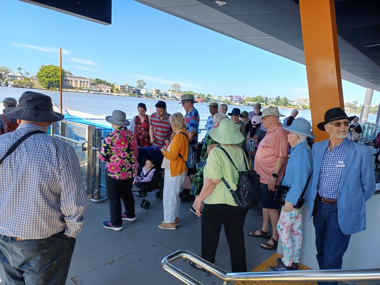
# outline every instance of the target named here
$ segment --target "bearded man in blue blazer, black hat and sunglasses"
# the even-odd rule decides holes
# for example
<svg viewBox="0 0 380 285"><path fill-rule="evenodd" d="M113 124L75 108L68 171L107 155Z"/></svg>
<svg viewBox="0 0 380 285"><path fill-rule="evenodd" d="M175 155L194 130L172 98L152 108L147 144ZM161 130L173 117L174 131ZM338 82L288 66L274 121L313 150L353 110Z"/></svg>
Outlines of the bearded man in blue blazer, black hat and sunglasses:
<svg viewBox="0 0 380 285"><path fill-rule="evenodd" d="M354 117L332 108L317 125L329 134L329 139L313 144L314 174L310 180L309 217L313 214L320 269L342 268L351 234L366 229L365 202L375 192L372 153L346 138Z"/></svg>

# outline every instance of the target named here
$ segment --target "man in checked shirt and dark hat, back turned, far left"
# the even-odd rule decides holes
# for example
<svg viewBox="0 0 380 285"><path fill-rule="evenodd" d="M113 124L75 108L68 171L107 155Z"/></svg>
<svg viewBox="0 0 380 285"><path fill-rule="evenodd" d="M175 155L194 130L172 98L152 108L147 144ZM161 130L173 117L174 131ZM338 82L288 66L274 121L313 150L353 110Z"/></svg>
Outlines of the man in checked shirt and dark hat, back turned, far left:
<svg viewBox="0 0 380 285"><path fill-rule="evenodd" d="M19 123L16 131L0 136L0 264L5 283L64 285L87 206L73 147L46 134L64 116L53 111L49 96L30 91L4 114Z"/></svg>

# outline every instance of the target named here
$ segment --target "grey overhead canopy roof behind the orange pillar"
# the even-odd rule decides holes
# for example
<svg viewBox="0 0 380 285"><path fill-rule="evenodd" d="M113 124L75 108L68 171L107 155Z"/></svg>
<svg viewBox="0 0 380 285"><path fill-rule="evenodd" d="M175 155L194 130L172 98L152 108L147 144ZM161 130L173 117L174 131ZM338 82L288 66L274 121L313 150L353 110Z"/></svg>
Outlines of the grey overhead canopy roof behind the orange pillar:
<svg viewBox="0 0 380 285"><path fill-rule="evenodd" d="M305 64L298 0L135 0ZM335 0L342 79L380 92L378 0Z"/></svg>

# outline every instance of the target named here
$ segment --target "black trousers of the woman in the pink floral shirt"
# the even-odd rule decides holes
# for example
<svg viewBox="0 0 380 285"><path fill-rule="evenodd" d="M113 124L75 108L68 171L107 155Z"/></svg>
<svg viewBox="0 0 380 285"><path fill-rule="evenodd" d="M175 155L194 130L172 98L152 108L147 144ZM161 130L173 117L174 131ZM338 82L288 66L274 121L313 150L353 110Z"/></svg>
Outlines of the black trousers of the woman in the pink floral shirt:
<svg viewBox="0 0 380 285"><path fill-rule="evenodd" d="M109 214L114 226L121 226L121 202L123 199L125 214L135 214L135 197L132 194L133 178L115 179L106 174L106 193L109 201Z"/></svg>

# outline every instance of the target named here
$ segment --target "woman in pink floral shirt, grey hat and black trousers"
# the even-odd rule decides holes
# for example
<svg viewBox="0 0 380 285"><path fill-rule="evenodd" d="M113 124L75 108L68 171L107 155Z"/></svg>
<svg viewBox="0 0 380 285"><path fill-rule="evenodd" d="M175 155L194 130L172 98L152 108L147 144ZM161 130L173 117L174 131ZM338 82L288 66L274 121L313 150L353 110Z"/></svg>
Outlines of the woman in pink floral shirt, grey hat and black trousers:
<svg viewBox="0 0 380 285"><path fill-rule="evenodd" d="M130 122L125 118L125 112L120 110L106 117L114 131L104 138L99 154L100 160L106 161L106 193L111 214L111 220L103 222L103 226L115 231L123 229L123 220L136 220L132 185L136 176L138 147L135 135L127 128ZM120 198L125 207L123 214Z"/></svg>

